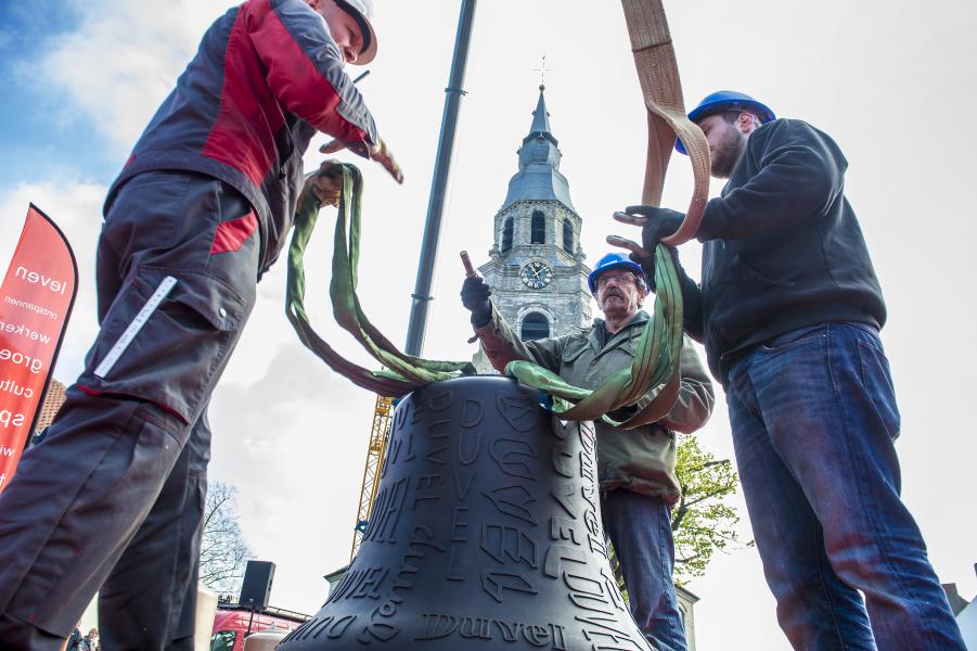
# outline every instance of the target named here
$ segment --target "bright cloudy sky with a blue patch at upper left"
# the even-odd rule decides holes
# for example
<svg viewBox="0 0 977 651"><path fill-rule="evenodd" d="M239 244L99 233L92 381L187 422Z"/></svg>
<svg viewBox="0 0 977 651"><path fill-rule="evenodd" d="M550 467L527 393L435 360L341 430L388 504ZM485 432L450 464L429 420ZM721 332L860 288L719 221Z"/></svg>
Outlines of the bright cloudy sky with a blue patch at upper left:
<svg viewBox="0 0 977 651"><path fill-rule="evenodd" d="M0 261L28 202L68 234L80 295L56 375L74 379L95 331L93 252L101 201L128 150L192 56L222 0L0 0ZM365 170L361 297L391 340L409 296L448 79L458 0L377 0L381 53L362 90L403 164L400 188ZM771 9L774 7L775 9ZM977 281L977 9L972 0L666 2L686 103L734 88L835 137L847 192L889 306L883 332L903 417L903 495L943 582L977 592L970 328ZM645 116L617 2L481 2L462 106L425 354L465 358L457 252L485 261L492 216L516 170L547 55L551 124L583 217L592 261L621 232L610 213L637 203ZM324 139L323 139L324 140ZM318 144L318 141L317 141ZM312 150L314 152L314 149ZM317 165L316 155L307 165ZM682 209L691 174L673 159L665 205ZM714 192L719 191L716 183ZM323 231L324 233L324 231ZM310 250L310 291L326 289L327 237ZM325 242L323 242L325 241ZM697 269L698 245L682 247ZM260 302L214 397L211 477L240 489L245 535L278 564L272 602L314 612L321 576L348 560L373 396L331 374L283 314L284 269ZM367 362L311 301L327 339ZM723 401L702 445L732 457ZM741 508L742 508L742 502ZM748 536L745 521L744 534ZM755 550L716 559L691 589L700 648L787 649Z"/></svg>

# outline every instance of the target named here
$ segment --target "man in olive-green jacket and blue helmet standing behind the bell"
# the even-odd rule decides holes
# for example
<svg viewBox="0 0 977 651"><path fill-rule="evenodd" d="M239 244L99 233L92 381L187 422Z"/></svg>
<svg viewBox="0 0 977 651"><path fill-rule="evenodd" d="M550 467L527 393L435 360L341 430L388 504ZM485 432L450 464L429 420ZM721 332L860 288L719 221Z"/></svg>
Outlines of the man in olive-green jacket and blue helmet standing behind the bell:
<svg viewBox="0 0 977 651"><path fill-rule="evenodd" d="M510 361L530 360L582 388L596 388L631 366L648 320L641 310L648 295L641 267L624 254L612 253L601 258L588 280L604 319L563 336L522 342L492 305L485 280L465 279L462 304L472 311L472 324L492 366L502 371ZM604 532L621 563L631 614L660 651L686 649L671 576L671 507L681 493L676 432L689 434L702 427L715 399L712 383L687 340L681 354L681 383L674 406L658 422L632 430L595 423ZM628 416L612 414L617 420Z"/></svg>

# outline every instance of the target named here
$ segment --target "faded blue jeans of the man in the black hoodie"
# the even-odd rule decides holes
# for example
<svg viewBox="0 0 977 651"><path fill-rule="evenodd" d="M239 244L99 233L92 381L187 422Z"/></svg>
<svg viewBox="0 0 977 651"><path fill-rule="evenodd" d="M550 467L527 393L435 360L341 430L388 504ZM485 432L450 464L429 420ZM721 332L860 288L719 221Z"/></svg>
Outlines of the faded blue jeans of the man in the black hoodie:
<svg viewBox="0 0 977 651"><path fill-rule="evenodd" d="M964 650L899 498L899 411L875 329L781 335L736 362L727 401L757 549L794 648Z"/></svg>

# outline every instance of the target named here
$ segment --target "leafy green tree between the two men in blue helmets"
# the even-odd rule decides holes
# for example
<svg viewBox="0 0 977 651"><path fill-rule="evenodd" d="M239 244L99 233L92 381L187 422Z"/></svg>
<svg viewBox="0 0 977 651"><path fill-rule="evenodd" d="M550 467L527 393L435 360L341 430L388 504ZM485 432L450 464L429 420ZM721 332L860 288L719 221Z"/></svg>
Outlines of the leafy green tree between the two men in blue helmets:
<svg viewBox="0 0 977 651"><path fill-rule="evenodd" d="M725 498L740 478L729 459L716 459L698 446L695 436L681 436L676 474L682 498L671 513L676 539L676 583L703 576L712 553L753 545L740 537L740 514Z"/></svg>

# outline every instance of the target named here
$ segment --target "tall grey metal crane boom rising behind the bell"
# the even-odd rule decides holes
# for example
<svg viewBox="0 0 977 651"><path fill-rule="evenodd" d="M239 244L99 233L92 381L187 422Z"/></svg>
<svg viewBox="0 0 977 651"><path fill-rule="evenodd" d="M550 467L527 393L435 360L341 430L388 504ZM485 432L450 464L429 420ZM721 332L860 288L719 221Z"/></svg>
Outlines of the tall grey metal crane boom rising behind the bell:
<svg viewBox="0 0 977 651"><path fill-rule="evenodd" d="M438 142L438 157L435 161L434 177L430 181L430 200L427 204L427 220L424 222L424 238L421 241L417 281L414 284L414 293L411 294L411 318L407 328L407 346L404 348L408 355L421 355L421 349L424 347L424 330L427 327L427 304L434 298L430 296L430 283L434 279L434 265L438 255L438 239L441 235L445 190L448 187L448 173L451 169L458 112L461 98L465 94L462 86L465 81L465 66L468 62L468 43L472 40L475 2L476 0L462 0L461 15L458 18L454 58L451 61L448 88L445 89L441 138Z"/></svg>

